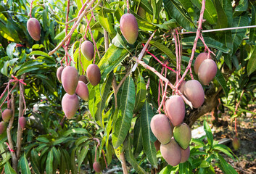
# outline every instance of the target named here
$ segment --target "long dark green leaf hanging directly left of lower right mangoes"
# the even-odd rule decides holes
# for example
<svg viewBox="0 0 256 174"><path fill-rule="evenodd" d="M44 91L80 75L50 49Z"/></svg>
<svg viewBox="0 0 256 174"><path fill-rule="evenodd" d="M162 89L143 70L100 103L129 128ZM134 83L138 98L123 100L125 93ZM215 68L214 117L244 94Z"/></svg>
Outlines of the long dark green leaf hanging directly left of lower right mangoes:
<svg viewBox="0 0 256 174"><path fill-rule="evenodd" d="M156 141L157 138L154 137L150 128L150 122L153 116L154 112L152 111L152 107L146 101L141 109L142 144L149 162L154 167L157 167L157 151L154 147L154 141Z"/></svg>

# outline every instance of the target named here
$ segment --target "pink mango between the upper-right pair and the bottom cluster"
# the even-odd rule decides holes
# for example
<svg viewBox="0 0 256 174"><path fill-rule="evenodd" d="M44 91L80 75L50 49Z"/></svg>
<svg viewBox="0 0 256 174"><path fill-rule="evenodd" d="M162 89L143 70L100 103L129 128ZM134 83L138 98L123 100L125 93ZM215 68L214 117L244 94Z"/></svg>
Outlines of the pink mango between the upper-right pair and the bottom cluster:
<svg viewBox="0 0 256 174"><path fill-rule="evenodd" d="M205 91L197 80L189 80L185 83L184 94L194 108L201 107L205 101Z"/></svg>

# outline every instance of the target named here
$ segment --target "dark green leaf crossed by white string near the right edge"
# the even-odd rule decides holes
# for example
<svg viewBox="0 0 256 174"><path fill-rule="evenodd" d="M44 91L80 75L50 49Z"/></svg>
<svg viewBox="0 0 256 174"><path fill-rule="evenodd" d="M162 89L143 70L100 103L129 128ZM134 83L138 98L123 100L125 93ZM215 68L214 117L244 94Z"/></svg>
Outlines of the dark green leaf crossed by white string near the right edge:
<svg viewBox="0 0 256 174"><path fill-rule="evenodd" d="M247 14L240 15L233 19L232 27L241 27L249 25L249 18ZM243 40L247 29L236 29L232 30L232 43L234 44L233 54L236 53L236 50L239 48L241 41Z"/></svg>

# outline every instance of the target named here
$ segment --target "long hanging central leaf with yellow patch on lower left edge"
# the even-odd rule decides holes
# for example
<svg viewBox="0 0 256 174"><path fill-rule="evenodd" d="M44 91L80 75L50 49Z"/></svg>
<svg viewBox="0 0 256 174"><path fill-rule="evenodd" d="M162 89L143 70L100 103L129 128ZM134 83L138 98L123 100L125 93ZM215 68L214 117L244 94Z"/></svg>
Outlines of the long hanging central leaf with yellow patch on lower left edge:
<svg viewBox="0 0 256 174"><path fill-rule="evenodd" d="M125 79L120 94L120 108L112 135L113 146L117 149L131 128L133 109L135 105L135 86L131 76Z"/></svg>

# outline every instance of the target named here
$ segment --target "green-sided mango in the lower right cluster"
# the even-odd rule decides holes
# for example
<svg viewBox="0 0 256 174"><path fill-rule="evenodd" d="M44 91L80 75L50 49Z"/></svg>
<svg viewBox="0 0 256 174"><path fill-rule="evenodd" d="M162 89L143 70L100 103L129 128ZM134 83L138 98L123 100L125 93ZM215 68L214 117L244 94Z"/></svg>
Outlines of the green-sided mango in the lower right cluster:
<svg viewBox="0 0 256 174"><path fill-rule="evenodd" d="M189 142L191 141L191 130L189 125L182 123L181 125L174 127L173 137L182 149L187 149Z"/></svg>

